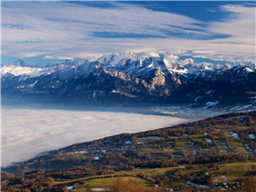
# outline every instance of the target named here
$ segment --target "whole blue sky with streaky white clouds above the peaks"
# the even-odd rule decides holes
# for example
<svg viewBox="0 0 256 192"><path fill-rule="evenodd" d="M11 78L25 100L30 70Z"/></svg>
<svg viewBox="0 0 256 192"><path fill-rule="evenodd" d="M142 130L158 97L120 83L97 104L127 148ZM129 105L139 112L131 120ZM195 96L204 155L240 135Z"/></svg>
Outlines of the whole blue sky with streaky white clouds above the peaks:
<svg viewBox="0 0 256 192"><path fill-rule="evenodd" d="M255 59L255 2L2 2L2 63L145 57Z"/></svg>

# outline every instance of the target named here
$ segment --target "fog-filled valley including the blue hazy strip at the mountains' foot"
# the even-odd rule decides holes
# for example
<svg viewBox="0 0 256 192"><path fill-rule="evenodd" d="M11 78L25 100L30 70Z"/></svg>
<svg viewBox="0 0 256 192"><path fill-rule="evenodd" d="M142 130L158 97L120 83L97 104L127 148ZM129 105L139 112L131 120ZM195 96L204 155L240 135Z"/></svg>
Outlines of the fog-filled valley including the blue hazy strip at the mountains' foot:
<svg viewBox="0 0 256 192"><path fill-rule="evenodd" d="M193 122L244 107L69 106L2 97L2 166L69 144Z"/></svg>

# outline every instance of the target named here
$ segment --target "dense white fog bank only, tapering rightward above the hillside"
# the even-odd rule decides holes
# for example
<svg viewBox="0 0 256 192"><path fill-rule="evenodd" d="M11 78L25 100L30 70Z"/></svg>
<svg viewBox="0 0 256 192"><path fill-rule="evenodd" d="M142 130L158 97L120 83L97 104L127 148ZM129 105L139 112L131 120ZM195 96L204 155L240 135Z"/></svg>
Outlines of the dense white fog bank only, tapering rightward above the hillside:
<svg viewBox="0 0 256 192"><path fill-rule="evenodd" d="M133 112L2 109L2 166L119 133L136 133L192 120Z"/></svg>

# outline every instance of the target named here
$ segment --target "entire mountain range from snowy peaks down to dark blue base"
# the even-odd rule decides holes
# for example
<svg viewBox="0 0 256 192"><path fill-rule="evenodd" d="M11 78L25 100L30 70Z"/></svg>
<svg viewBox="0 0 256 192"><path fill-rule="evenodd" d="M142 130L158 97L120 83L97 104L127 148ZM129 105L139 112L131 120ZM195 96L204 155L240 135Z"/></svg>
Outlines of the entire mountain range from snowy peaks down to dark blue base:
<svg viewBox="0 0 256 192"><path fill-rule="evenodd" d="M2 95L69 104L256 105L256 65L138 57L133 52L55 65L2 65Z"/></svg>

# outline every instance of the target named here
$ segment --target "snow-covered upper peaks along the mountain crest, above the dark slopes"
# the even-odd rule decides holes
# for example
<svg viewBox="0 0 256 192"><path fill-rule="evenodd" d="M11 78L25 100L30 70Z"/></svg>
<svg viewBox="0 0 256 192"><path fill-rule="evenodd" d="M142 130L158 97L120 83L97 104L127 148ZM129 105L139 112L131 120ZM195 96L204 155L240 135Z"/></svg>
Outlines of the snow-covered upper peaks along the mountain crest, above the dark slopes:
<svg viewBox="0 0 256 192"><path fill-rule="evenodd" d="M22 59L16 59L15 65L4 66L1 69L2 77L7 73L15 76L29 75L38 77L41 75L58 72L60 79L78 78L82 75L89 74L100 67L106 70L116 70L135 77L148 78L155 74L156 69L161 69L166 75L183 75L188 79L196 79L197 77L209 77L216 70L226 71L236 66L248 66L247 71L253 72L256 69L255 61L247 64L236 62L226 63L225 66L212 64L207 62L195 63L193 59L185 60L168 60L164 57L149 57L146 59L139 58L133 52L124 52L120 54L112 54L101 56L97 61L89 62L83 60L66 60L65 64L52 66L52 68L34 68Z"/></svg>

